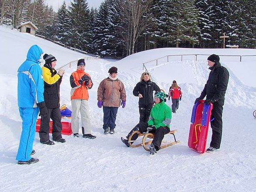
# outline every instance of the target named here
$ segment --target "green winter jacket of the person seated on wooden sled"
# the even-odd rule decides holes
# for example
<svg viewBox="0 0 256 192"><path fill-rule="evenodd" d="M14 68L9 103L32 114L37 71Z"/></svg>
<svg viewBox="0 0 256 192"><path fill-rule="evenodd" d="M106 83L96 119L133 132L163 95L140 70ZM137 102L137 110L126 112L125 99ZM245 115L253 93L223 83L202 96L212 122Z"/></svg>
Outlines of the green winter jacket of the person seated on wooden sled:
<svg viewBox="0 0 256 192"><path fill-rule="evenodd" d="M165 127L170 128L170 123L172 120L172 109L169 108L164 101L155 104L152 108L148 120L148 125L155 125L155 128Z"/></svg>

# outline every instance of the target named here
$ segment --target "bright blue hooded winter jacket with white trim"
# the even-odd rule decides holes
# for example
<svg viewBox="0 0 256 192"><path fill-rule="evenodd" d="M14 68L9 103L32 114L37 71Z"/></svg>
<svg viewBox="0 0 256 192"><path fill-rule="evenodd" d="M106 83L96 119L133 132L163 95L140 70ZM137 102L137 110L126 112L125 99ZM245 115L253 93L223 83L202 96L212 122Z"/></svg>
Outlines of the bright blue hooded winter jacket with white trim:
<svg viewBox="0 0 256 192"><path fill-rule="evenodd" d="M39 65L43 50L33 45L27 52L27 59L18 69L18 106L36 108L44 101L44 80Z"/></svg>

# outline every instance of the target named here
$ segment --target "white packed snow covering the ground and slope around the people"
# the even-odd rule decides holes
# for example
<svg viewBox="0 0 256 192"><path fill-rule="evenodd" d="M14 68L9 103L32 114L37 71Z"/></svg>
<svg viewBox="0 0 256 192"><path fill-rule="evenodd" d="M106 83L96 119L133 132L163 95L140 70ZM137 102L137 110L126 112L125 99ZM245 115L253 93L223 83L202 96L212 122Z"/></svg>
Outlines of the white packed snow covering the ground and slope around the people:
<svg viewBox="0 0 256 192"><path fill-rule="evenodd" d="M207 56L169 57L145 64L153 80L168 91L173 80L182 88L179 110L172 115L171 129L177 129L177 145L149 155L142 147L127 148L120 137L127 135L139 120L138 97L132 90L143 72L142 63L172 54L256 55L249 49L163 48L133 54L120 61L89 60L85 70L94 86L89 90L92 134L90 140L63 137L66 143L48 146L36 133L36 164L17 165L15 160L21 119L17 106L17 69L28 48L37 44L57 58L57 67L84 57L47 40L0 27L0 191L1 192L256 192L256 57L221 56L230 73L223 111L222 145L215 153L198 154L187 146L191 111L208 78ZM127 104L118 109L115 135L104 135L103 112L97 107L98 84L108 77L108 69L118 67L125 84ZM61 104L71 109L69 77L76 65L64 67ZM167 101L171 106L171 102ZM51 136L51 135L50 135ZM164 141L171 141L166 135ZM211 140L211 128L207 146Z"/></svg>

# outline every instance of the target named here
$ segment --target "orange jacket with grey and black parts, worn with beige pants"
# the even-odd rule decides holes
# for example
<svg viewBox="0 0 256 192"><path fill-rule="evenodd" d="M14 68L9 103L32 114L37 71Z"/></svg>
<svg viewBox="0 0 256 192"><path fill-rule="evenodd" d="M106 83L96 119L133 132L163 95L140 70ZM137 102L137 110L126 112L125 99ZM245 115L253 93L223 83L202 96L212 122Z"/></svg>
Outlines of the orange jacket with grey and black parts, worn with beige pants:
<svg viewBox="0 0 256 192"><path fill-rule="evenodd" d="M93 83L91 81L91 77L89 80L88 85L85 85L85 82L83 84L78 83L78 80L81 79L84 75L90 75L88 73L85 73L84 70L77 69L77 71L74 71L70 76L70 84L71 84L71 100L72 99L89 99L88 89L91 89L93 86Z"/></svg>

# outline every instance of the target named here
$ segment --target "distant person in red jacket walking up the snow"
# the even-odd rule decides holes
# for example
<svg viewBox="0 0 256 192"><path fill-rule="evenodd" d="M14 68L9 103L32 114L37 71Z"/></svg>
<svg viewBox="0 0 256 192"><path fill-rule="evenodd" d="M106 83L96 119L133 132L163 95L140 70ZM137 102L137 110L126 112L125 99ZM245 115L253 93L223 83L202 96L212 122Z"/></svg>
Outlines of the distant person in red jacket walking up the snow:
<svg viewBox="0 0 256 192"><path fill-rule="evenodd" d="M182 91L175 80L172 81L172 86L169 89L169 96L168 96L169 101L171 97L172 97L172 112L176 113L176 111L179 108L179 101L181 101L181 98L182 98Z"/></svg>

